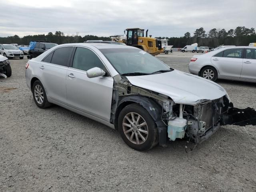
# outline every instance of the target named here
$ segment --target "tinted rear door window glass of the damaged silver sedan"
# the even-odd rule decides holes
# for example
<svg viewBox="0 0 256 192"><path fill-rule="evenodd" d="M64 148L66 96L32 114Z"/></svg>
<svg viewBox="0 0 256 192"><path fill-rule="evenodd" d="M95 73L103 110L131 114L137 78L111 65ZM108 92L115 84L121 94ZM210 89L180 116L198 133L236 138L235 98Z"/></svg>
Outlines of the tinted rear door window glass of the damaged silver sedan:
<svg viewBox="0 0 256 192"><path fill-rule="evenodd" d="M51 63L68 67L72 50L73 47L61 47L56 49L53 53Z"/></svg>

